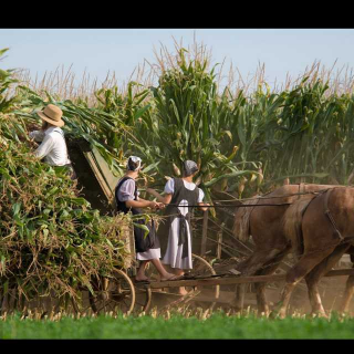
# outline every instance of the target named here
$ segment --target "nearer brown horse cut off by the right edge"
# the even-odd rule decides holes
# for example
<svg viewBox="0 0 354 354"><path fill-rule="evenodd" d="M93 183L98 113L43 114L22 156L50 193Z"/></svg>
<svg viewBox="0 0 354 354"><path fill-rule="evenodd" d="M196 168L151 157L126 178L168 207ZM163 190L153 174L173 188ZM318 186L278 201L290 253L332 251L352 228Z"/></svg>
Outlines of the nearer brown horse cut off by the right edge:
<svg viewBox="0 0 354 354"><path fill-rule="evenodd" d="M272 316L285 316L291 293L302 279L306 280L312 312L325 316L317 283L345 252L351 252L354 244L353 205L352 187L330 189L310 201L300 223L303 254L287 273L287 284ZM291 228L290 223L285 222L284 229L291 237L296 227ZM342 311L347 309L352 294L353 277L350 277Z"/></svg>

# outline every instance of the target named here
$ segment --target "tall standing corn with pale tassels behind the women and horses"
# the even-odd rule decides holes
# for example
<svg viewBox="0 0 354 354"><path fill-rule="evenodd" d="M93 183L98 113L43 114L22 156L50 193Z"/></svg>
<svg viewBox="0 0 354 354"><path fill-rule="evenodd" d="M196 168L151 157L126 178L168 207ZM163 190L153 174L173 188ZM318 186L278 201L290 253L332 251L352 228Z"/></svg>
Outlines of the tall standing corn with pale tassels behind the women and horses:
<svg viewBox="0 0 354 354"><path fill-rule="evenodd" d="M140 71L140 82L126 88L106 82L94 93L65 100L43 91L43 83L39 90L19 85L25 104L17 113L33 123L35 108L58 104L67 133L95 145L117 174L129 154L140 156L142 188L178 176L186 158L200 166L197 184L207 199L212 190L248 197L287 178L351 184L352 81L331 82L330 71L313 65L285 90L271 91L260 71L252 92L247 83L232 87L231 82L220 92L221 71L210 63L205 46L187 51L176 43L175 54L164 48L156 53L155 85Z"/></svg>

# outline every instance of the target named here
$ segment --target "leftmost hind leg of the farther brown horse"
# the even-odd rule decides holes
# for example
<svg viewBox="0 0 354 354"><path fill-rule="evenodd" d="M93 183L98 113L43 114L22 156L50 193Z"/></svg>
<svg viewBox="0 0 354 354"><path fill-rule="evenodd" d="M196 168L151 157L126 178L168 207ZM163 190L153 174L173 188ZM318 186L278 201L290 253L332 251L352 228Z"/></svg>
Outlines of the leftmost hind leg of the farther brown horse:
<svg viewBox="0 0 354 354"><path fill-rule="evenodd" d="M254 251L250 258L248 258L241 267L237 267L237 270L241 271L242 275L252 275L254 274L266 262L272 260L277 257L279 250L263 250L263 251ZM240 263L241 264L241 263ZM246 266L248 266L246 268ZM244 302L244 292L246 284L239 284L236 287L236 296L232 305L237 309L243 309Z"/></svg>

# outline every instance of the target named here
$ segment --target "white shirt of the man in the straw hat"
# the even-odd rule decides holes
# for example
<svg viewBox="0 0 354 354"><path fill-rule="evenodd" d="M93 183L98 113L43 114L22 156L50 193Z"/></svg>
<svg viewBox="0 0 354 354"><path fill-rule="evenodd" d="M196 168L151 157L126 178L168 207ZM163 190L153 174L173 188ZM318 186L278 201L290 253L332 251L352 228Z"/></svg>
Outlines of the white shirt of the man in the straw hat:
<svg viewBox="0 0 354 354"><path fill-rule="evenodd" d="M31 132L30 138L34 138L35 142L42 142L34 155L39 158L44 157L44 162L49 165L64 166L71 164L64 132L60 127L51 126L44 133L41 131Z"/></svg>

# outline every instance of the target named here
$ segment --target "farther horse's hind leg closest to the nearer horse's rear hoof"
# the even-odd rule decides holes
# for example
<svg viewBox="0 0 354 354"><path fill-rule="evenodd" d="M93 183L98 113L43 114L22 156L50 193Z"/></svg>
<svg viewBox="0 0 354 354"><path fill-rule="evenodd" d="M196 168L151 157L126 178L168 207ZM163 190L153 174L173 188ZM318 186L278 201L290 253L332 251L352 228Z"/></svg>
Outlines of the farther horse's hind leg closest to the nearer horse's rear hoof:
<svg viewBox="0 0 354 354"><path fill-rule="evenodd" d="M290 250L291 250L291 247L288 246L285 249L280 251L272 260L268 261L259 271L257 271L256 275L272 274L279 267L280 262L289 253ZM254 283L254 287L256 287L258 313L259 314L264 313L266 315L268 315L269 306L268 306L267 296L266 296L267 283L266 282Z"/></svg>

